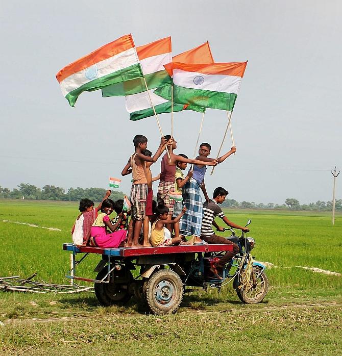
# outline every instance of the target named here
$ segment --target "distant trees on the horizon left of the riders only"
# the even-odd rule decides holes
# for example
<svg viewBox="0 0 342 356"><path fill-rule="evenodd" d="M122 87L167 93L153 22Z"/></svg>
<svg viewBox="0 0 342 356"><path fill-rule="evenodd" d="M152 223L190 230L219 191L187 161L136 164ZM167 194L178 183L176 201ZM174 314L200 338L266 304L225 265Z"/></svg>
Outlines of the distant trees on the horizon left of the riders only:
<svg viewBox="0 0 342 356"><path fill-rule="evenodd" d="M88 198L93 201L101 201L105 196L106 189L103 188L69 188L65 191L64 188L53 185L45 185L41 189L28 183L20 183L18 188L12 191L8 188L0 186L0 199L30 199L30 200L64 200L78 201ZM111 199L117 200L124 197L121 191L113 191Z"/></svg>

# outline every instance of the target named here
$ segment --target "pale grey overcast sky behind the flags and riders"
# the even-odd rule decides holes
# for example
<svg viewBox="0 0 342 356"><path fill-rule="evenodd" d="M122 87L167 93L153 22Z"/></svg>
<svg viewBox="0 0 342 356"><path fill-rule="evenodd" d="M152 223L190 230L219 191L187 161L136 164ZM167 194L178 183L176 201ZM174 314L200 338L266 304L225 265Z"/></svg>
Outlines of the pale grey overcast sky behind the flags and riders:
<svg viewBox="0 0 342 356"><path fill-rule="evenodd" d="M101 91L81 94L71 108L55 78L131 33L136 46L172 36L173 55L208 40L215 62L248 60L231 119L237 152L207 172L209 195L222 186L228 198L257 204L331 200L331 170L342 168L341 10L338 0L2 2L0 186L107 189L133 153L136 134L155 152L154 117L129 121L125 98L102 98ZM201 118L174 114L175 153L193 155ZM159 120L168 134L170 114ZM207 110L200 141L212 145L212 157L226 124L225 111ZM231 144L228 135L222 153ZM159 169L160 161L152 166L155 175ZM130 185L123 177L119 190L129 194Z"/></svg>

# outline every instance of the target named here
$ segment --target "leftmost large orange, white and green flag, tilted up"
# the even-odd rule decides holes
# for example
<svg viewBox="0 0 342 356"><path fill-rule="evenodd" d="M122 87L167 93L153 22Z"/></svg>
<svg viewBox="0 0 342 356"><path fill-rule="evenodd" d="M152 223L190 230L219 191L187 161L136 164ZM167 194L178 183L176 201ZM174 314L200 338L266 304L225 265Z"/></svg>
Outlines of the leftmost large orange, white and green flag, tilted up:
<svg viewBox="0 0 342 356"><path fill-rule="evenodd" d="M126 81L139 77L142 77L142 71L130 34L105 44L56 74L62 93L72 107L84 91L110 84L122 88Z"/></svg>

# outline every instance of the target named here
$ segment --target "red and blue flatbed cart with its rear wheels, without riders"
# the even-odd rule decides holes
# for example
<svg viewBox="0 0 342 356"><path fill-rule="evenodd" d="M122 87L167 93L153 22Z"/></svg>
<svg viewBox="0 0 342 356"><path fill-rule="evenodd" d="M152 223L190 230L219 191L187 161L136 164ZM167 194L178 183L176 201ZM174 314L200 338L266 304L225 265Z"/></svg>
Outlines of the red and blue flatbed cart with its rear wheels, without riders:
<svg viewBox="0 0 342 356"><path fill-rule="evenodd" d="M238 266L236 271L247 265L247 255L243 252L241 244L239 247L241 253L236 261L240 262L235 264L235 267ZM230 243L141 248L77 247L71 243L64 243L63 250L71 252L71 269L66 277L93 282L95 295L104 306L123 304L135 295L148 304L151 312L168 314L177 311L184 293L199 289L207 290L208 287L221 289L226 278L234 278L235 289L239 284L237 272L234 275L224 272L223 279L210 274L213 260L217 261L227 251L233 250ZM101 256L93 270L97 272L96 277L78 276L77 267L91 254ZM265 267L262 265L257 267L260 268L261 275ZM133 270L134 276L131 272ZM264 274L262 276L264 283L265 276ZM239 296L238 291L237 294ZM241 299L240 296L239 298Z"/></svg>

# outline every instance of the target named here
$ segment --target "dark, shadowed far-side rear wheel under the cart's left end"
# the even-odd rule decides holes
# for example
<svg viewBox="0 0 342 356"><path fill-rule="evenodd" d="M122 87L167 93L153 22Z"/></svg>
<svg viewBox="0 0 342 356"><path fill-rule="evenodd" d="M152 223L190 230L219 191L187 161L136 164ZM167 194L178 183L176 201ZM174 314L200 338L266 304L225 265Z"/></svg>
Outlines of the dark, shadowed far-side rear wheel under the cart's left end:
<svg viewBox="0 0 342 356"><path fill-rule="evenodd" d="M96 276L96 279L102 279L108 270L107 267L104 267ZM111 272L111 276L120 278L120 283L95 283L94 290L96 298L103 306L111 306L113 304L125 304L131 298L131 295L128 293L128 285L132 281L133 276L131 271L129 271L127 282L121 282L125 278L126 271L121 269L120 271L114 270Z"/></svg>

